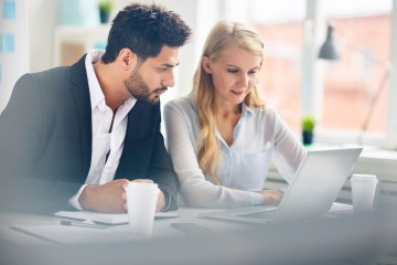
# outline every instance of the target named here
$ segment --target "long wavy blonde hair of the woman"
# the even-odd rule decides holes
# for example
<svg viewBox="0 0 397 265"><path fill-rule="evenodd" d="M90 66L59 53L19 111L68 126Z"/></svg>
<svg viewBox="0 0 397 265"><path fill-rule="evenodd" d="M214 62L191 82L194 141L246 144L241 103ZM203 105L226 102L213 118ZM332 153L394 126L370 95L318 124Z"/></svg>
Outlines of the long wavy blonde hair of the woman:
<svg viewBox="0 0 397 265"><path fill-rule="evenodd" d="M216 60L221 56L222 52L234 46L259 55L261 59L264 57L264 43L253 29L243 23L225 20L216 23L210 32L204 44L202 57L207 56L211 60ZM198 151L198 165L217 184L221 184L222 181L216 174L216 168L221 159L221 147L215 137L216 123L213 109L214 85L211 74L204 71L202 62L200 62L194 74L191 95L195 99L201 125L197 137L197 145L202 144ZM246 96L245 103L249 107L260 107L265 105L265 102L259 96L257 85L255 85L254 89Z"/></svg>

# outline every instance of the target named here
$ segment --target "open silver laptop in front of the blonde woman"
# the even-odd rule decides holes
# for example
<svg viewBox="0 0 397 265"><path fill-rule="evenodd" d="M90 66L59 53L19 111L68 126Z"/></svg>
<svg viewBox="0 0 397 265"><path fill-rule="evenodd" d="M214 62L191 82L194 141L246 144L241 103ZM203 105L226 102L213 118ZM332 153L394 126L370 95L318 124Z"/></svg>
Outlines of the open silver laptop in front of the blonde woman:
<svg viewBox="0 0 397 265"><path fill-rule="evenodd" d="M309 150L278 206L228 209L200 216L260 224L316 218L331 208L339 211L333 203L362 150L362 147Z"/></svg>

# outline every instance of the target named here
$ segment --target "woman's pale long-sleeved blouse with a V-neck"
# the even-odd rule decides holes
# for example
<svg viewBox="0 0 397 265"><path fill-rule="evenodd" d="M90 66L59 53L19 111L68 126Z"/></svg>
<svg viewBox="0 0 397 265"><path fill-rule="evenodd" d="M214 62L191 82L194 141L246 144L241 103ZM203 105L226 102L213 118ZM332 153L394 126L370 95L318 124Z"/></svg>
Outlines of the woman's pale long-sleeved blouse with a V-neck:
<svg viewBox="0 0 397 265"><path fill-rule="evenodd" d="M234 129L234 142L228 146L218 131L222 158L215 184L198 167L200 124L191 97L178 98L164 106L167 144L180 180L182 203L191 206L235 208L262 204L270 161L290 182L305 150L277 112L271 107L249 108L243 103L242 117Z"/></svg>

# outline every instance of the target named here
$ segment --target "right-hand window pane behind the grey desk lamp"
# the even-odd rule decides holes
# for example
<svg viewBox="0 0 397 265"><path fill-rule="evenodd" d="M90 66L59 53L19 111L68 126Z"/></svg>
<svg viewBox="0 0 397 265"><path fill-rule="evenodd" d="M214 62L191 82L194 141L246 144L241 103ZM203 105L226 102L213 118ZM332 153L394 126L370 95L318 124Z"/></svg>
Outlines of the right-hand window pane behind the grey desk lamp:
<svg viewBox="0 0 397 265"><path fill-rule="evenodd" d="M358 142L386 138L391 0L343 4L322 0L319 9L323 14L319 22L325 26L332 21L340 47L340 60L321 65L321 127L350 132Z"/></svg>

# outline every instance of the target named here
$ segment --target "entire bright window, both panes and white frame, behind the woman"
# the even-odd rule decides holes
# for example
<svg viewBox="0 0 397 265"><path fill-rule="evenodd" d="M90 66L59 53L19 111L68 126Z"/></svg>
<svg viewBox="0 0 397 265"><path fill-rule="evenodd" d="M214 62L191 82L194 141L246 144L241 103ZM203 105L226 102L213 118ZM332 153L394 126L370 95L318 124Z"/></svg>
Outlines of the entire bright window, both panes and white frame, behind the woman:
<svg viewBox="0 0 397 265"><path fill-rule="evenodd" d="M393 0L247 4L246 22L265 42L262 92L293 131L300 134L301 117L309 113L319 121L318 141L397 147ZM341 57L319 60L331 21Z"/></svg>

